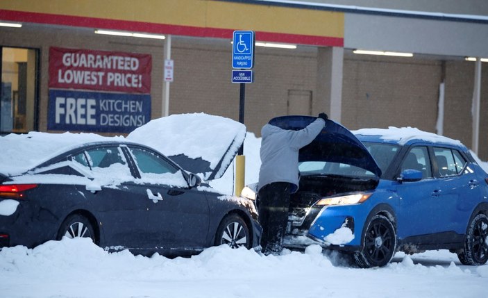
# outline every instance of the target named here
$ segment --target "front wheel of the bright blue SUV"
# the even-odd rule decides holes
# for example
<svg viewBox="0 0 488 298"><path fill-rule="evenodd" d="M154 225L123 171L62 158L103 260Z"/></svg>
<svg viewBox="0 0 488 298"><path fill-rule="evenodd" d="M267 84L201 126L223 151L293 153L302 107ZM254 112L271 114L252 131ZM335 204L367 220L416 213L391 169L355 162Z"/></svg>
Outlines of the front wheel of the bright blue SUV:
<svg viewBox="0 0 488 298"><path fill-rule="evenodd" d="M382 267L392 260L396 251L395 227L384 215L375 215L367 223L361 251L354 254L362 268Z"/></svg>

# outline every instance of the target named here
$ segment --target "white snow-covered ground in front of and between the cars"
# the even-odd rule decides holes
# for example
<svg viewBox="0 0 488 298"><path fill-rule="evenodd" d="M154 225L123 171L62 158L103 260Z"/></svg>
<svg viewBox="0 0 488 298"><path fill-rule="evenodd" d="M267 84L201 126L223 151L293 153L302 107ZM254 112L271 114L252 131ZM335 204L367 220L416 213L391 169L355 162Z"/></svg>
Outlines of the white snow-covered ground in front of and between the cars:
<svg viewBox="0 0 488 298"><path fill-rule="evenodd" d="M244 143L246 183L258 181L260 139ZM487 170L486 163L482 163ZM233 165L212 186L233 192ZM87 239L0 251L0 297L488 297L488 265L464 266L449 251L398 253L382 268L358 269L311 245L262 256L225 246L192 258L108 253Z"/></svg>

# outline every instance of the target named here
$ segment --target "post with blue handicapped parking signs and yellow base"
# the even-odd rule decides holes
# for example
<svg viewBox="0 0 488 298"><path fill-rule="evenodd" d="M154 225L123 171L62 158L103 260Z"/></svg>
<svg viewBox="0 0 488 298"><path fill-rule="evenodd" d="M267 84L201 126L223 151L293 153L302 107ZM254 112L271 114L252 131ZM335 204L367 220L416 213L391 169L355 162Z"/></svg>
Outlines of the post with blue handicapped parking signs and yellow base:
<svg viewBox="0 0 488 298"><path fill-rule="evenodd" d="M239 92L239 122L244 124L244 101L246 97L246 83L253 83L254 67L254 31L234 31L232 50L232 83L240 84ZM235 70L239 69L239 70ZM248 70L249 69L249 70ZM235 195L239 196L244 188L244 144L239 148L236 157Z"/></svg>

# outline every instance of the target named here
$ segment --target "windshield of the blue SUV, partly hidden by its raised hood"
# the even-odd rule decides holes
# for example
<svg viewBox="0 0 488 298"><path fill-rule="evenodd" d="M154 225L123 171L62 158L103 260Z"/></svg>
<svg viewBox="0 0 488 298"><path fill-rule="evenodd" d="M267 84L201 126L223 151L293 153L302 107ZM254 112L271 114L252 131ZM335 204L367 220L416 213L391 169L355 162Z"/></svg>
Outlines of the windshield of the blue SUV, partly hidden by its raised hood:
<svg viewBox="0 0 488 298"><path fill-rule="evenodd" d="M383 173L386 171L389 164L392 163L392 160L400 148L396 144L375 142L364 142L364 147L367 148L369 154L376 160L378 167L380 167ZM363 169L362 167L355 167L346 163L332 163L330 161L304 161L298 163L298 169L303 176L340 175L366 179L375 176L373 172Z"/></svg>

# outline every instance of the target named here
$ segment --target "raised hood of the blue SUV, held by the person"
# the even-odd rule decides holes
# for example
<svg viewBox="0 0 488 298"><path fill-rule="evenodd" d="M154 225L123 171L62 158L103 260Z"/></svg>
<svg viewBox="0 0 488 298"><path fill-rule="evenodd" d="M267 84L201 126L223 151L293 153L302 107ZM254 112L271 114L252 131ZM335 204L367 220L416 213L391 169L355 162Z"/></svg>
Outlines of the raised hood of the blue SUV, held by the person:
<svg viewBox="0 0 488 298"><path fill-rule="evenodd" d="M314 122L317 117L312 116L282 116L269 121L269 124L281 129L304 129ZM299 151L298 161L329 161L361 167L381 176L381 169L373 156L360 140L344 126L328 119L326 126L317 138Z"/></svg>

